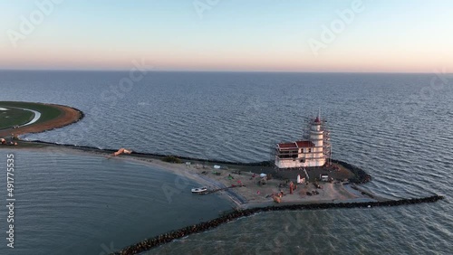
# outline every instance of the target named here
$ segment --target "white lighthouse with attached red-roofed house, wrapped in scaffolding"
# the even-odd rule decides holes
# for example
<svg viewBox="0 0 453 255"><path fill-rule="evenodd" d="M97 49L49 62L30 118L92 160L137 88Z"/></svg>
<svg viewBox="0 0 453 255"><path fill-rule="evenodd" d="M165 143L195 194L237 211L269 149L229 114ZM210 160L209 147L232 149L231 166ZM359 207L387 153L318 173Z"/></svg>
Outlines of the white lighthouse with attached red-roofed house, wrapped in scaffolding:
<svg viewBox="0 0 453 255"><path fill-rule="evenodd" d="M278 168L323 166L330 157L329 132L323 127L320 115L310 120L308 139L279 143L275 147L275 165Z"/></svg>

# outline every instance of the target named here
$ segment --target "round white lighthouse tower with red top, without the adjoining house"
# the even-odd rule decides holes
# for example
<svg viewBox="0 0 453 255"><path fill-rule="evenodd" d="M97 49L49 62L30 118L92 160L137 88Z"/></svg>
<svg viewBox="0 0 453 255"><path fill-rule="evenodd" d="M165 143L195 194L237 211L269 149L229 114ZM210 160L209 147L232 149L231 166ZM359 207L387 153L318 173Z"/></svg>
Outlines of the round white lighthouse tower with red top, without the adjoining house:
<svg viewBox="0 0 453 255"><path fill-rule="evenodd" d="M323 153L323 140L324 130L320 116L314 118L310 127L310 140L313 142L313 158L311 160L313 165L321 166L325 164L325 156Z"/></svg>

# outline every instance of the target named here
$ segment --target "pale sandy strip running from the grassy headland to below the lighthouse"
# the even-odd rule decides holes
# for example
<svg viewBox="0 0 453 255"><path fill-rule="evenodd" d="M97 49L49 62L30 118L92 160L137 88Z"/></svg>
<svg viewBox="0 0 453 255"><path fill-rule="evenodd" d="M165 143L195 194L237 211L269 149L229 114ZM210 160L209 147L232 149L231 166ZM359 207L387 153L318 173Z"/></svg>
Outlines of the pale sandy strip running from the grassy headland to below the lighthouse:
<svg viewBox="0 0 453 255"><path fill-rule="evenodd" d="M92 154L97 156L109 156L116 151L115 149L100 149L91 146L72 146L60 145L43 141L18 141L19 146L14 146L16 149L58 149L71 152L80 152L83 154ZM281 203L283 204L311 204L311 203L341 203L346 201L385 201L384 198L377 196L366 195L361 193L351 192L348 188L349 181L337 180L335 182L316 182L322 188L318 188L313 182L307 184L298 184L298 188L290 194L289 186L285 184L282 176L273 177L267 180L265 185L258 185L260 180L259 174L266 172L268 175L278 175L280 171L276 171L270 165L270 162L256 162L256 163L237 163L215 160L202 160L191 157L178 156L178 159L187 159L181 163L169 163L164 159L167 156L157 154L147 154L140 152L133 152L130 155L117 156L118 159L135 161L141 164L150 165L159 169L169 171L174 175L187 177L201 186L207 186L210 190L219 190L218 194L224 195L229 202L231 202L234 209L249 209L255 207L268 206L275 204L273 196L283 191ZM214 168L214 165L220 166L221 169ZM315 170L324 171L328 170ZM344 170L347 172L347 170ZM309 170L310 175L312 174ZM290 181L294 181L296 172L295 170L287 171L286 176L291 175ZM352 174L350 174L352 175ZM361 184L358 182L357 184ZM190 188L186 187L190 192ZM308 195L309 192L317 191L318 194ZM198 195L198 194L196 194ZM209 194L206 194L209 195Z"/></svg>

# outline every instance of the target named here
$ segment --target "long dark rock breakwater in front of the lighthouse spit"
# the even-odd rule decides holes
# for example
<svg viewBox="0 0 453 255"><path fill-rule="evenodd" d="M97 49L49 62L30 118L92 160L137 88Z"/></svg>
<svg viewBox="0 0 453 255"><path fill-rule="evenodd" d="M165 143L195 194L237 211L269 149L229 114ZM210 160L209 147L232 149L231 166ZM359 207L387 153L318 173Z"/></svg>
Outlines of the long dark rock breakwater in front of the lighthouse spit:
<svg viewBox="0 0 453 255"><path fill-rule="evenodd" d="M202 231L207 231L213 228L218 227L219 225L234 221L238 218L250 216L255 213L263 212L273 212L273 211L296 211L296 210L323 210L323 209L334 209L334 208L370 208L370 207L382 207L382 206L400 206L400 205L409 205L409 204L418 204L418 203L435 203L439 200L444 199L442 195L432 195L429 197L423 198L410 198L410 199L400 199L393 201L385 202L360 202L360 203L311 203L311 204L290 204L290 205L281 205L281 206L266 206L266 207L256 207L246 210L237 210L232 213L226 213L220 216L217 219L200 222L195 225L187 226L185 228L179 229L177 231L169 231L164 234L160 234L153 238L140 241L139 243L130 245L120 251L111 253L115 255L130 255L138 254L140 252L150 250L159 245L174 241L176 239L183 238L193 233L198 233Z"/></svg>

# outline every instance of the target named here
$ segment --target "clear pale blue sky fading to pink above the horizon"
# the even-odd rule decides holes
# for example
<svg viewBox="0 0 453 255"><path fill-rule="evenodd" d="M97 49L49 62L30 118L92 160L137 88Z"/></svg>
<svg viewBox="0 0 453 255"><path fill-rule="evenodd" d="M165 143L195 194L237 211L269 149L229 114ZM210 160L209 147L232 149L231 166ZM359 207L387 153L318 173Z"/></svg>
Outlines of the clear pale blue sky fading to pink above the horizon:
<svg viewBox="0 0 453 255"><path fill-rule="evenodd" d="M449 0L0 0L0 31L0 69L453 70Z"/></svg>

